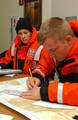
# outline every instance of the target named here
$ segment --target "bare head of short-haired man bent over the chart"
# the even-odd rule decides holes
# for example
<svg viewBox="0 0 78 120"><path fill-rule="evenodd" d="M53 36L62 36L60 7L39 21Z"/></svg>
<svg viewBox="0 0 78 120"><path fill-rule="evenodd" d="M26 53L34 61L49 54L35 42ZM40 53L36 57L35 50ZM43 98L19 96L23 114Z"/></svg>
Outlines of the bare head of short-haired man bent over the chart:
<svg viewBox="0 0 78 120"><path fill-rule="evenodd" d="M58 62L65 59L73 46L73 31L67 21L54 17L41 25L40 36L44 47Z"/></svg>

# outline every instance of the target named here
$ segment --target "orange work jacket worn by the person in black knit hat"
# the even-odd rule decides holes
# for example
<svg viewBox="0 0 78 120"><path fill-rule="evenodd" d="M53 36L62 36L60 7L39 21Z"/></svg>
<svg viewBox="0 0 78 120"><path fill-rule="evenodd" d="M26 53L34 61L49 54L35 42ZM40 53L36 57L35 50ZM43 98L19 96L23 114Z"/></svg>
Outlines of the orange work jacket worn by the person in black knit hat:
<svg viewBox="0 0 78 120"><path fill-rule="evenodd" d="M31 39L27 44L23 44L18 36L15 37L10 49L6 50L5 55L0 58L0 66L2 69L21 69L26 74L29 74L29 68L34 73L35 69L39 68L44 75L47 75L52 69L52 67L49 69L52 62L48 52L40 46L37 32L33 28Z"/></svg>

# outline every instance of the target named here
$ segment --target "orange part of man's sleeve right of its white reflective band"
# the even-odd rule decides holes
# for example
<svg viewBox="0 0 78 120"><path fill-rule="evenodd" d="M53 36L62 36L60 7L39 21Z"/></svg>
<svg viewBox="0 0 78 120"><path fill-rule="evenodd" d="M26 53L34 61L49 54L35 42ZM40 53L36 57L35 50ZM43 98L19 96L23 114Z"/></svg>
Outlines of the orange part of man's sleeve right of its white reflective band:
<svg viewBox="0 0 78 120"><path fill-rule="evenodd" d="M63 103L78 106L78 83L64 83Z"/></svg>

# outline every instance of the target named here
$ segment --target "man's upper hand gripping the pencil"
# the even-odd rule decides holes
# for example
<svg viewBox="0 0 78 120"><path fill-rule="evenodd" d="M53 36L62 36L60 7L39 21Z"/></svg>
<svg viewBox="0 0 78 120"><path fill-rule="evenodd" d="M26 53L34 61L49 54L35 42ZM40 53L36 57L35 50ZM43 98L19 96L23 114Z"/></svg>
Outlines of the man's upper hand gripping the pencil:
<svg viewBox="0 0 78 120"><path fill-rule="evenodd" d="M32 89L33 87L37 87L40 85L40 79L35 77L29 77L26 84L28 89Z"/></svg>

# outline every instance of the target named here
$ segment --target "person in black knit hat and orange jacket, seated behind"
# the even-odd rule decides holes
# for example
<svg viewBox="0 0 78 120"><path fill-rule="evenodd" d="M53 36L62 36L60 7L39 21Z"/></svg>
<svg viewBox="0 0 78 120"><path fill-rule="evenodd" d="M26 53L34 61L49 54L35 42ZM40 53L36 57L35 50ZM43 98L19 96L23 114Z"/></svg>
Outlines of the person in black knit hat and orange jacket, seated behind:
<svg viewBox="0 0 78 120"><path fill-rule="evenodd" d="M49 66L53 66L52 60L43 46L40 46L36 28L27 19L20 18L16 24L16 33L10 48L0 55L1 69L21 69L26 74L29 74L29 69L31 69L33 76L38 78L39 72L41 76L50 73ZM40 61L44 61L44 64Z"/></svg>

